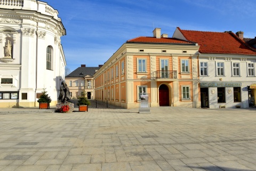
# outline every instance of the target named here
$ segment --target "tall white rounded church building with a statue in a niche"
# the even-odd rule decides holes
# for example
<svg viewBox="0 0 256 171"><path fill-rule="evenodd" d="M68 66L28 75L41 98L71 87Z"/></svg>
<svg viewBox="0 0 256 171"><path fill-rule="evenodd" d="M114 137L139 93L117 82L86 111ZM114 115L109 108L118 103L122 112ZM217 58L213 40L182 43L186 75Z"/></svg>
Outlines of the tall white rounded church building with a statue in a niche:
<svg viewBox="0 0 256 171"><path fill-rule="evenodd" d="M36 107L44 88L55 105L66 66L58 11L36 0L0 7L0 107Z"/></svg>

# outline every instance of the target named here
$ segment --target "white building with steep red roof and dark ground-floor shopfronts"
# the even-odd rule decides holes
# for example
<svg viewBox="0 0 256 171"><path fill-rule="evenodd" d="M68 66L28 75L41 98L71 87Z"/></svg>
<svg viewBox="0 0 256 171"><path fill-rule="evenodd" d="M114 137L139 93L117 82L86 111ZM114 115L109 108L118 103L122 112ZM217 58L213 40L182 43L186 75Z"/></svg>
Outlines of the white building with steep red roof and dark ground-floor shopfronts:
<svg viewBox="0 0 256 171"><path fill-rule="evenodd" d="M202 108L255 106L256 50L243 32L191 31L177 28L173 37L198 43ZM252 42L252 41L251 41Z"/></svg>

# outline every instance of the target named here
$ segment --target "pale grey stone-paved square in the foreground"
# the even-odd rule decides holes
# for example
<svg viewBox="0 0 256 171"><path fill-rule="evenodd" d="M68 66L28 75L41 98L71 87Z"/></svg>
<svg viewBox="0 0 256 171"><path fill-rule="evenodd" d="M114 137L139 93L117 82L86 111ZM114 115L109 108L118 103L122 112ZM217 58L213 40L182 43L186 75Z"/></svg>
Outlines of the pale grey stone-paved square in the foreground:
<svg viewBox="0 0 256 171"><path fill-rule="evenodd" d="M0 115L0 170L256 170L255 109L92 102L89 112Z"/></svg>

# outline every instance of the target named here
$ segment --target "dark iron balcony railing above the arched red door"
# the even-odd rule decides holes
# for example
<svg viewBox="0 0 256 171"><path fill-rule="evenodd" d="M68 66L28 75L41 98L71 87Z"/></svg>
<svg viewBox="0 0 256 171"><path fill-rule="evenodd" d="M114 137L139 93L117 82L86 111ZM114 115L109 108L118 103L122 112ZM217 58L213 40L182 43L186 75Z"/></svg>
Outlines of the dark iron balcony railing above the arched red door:
<svg viewBox="0 0 256 171"><path fill-rule="evenodd" d="M143 81L151 79L177 79L177 71L155 71L146 76L141 77Z"/></svg>

